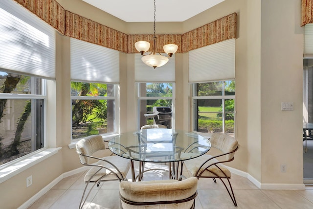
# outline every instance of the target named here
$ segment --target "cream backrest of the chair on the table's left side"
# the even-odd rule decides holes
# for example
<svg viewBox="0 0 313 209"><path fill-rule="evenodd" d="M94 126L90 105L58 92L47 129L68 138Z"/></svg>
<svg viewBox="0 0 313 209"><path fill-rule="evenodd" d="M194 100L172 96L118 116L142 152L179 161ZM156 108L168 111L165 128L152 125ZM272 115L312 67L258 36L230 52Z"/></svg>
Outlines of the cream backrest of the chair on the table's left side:
<svg viewBox="0 0 313 209"><path fill-rule="evenodd" d="M106 149L105 143L100 135L91 135L80 139L76 143L76 152L79 155L81 163L88 164L89 157L96 151Z"/></svg>

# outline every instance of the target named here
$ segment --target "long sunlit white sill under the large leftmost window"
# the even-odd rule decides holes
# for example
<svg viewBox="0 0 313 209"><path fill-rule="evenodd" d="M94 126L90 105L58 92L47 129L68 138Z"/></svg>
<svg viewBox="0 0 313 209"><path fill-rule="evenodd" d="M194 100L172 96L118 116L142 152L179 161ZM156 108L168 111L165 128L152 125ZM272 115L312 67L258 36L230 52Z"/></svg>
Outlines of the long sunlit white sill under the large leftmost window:
<svg viewBox="0 0 313 209"><path fill-rule="evenodd" d="M22 171L44 161L52 155L58 153L62 147L44 148L36 152L23 156L12 163L6 163L0 166L0 184Z"/></svg>

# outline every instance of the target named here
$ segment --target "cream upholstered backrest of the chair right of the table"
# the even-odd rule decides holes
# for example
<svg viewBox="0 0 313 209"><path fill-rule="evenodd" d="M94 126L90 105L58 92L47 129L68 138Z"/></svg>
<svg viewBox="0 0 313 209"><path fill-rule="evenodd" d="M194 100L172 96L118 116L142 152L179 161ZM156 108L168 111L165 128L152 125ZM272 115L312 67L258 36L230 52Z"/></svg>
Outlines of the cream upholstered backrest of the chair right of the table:
<svg viewBox="0 0 313 209"><path fill-rule="evenodd" d="M234 158L235 152L232 151L238 147L238 141L236 139L227 134L214 133L210 138L210 142L212 147L219 149L223 153L229 153L226 155L227 161Z"/></svg>

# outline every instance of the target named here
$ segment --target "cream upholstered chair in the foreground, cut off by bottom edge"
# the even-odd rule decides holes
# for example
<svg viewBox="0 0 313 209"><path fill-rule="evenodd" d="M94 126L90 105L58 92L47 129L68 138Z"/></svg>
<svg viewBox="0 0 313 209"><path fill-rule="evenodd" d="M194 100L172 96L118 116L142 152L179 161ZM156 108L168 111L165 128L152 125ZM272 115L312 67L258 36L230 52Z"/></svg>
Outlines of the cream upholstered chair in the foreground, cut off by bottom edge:
<svg viewBox="0 0 313 209"><path fill-rule="evenodd" d="M194 209L198 179L121 182L122 209Z"/></svg>

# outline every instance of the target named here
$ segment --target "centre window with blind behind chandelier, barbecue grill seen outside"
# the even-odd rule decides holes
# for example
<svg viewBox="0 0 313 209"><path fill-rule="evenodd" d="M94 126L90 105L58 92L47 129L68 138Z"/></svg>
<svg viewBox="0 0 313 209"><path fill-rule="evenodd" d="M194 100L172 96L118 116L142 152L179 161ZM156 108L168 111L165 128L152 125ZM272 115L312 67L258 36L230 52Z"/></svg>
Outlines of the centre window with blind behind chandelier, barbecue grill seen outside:
<svg viewBox="0 0 313 209"><path fill-rule="evenodd" d="M137 128L148 124L162 124L167 128L174 128L175 54L166 65L157 69L144 64L141 57L140 54L134 56L138 99ZM164 107L162 112L166 113L156 114L153 111L156 107Z"/></svg>

